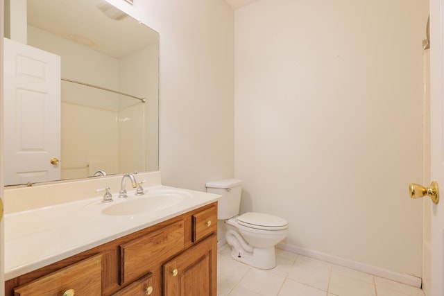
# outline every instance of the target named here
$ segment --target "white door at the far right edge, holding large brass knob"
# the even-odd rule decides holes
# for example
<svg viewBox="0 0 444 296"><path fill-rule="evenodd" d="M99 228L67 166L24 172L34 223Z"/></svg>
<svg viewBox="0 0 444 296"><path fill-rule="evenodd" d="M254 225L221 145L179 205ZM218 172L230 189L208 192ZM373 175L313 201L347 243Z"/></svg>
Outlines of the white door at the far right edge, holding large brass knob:
<svg viewBox="0 0 444 296"><path fill-rule="evenodd" d="M444 193L443 1L430 0L430 177L441 185L441 193ZM431 225L431 295L441 296L444 295L444 195L438 204L432 204Z"/></svg>

